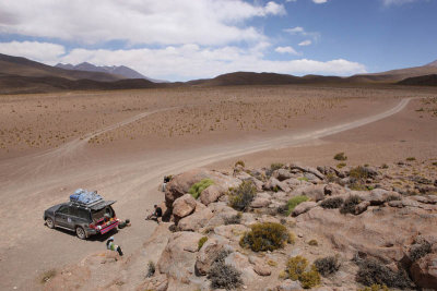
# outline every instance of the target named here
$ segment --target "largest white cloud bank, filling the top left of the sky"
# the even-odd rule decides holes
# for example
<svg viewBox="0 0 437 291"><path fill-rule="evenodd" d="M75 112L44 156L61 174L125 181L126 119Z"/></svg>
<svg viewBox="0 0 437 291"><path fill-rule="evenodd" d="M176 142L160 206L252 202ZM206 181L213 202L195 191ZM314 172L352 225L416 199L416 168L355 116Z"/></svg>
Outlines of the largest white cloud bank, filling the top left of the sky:
<svg viewBox="0 0 437 291"><path fill-rule="evenodd" d="M98 44L225 45L259 41L244 22L285 14L283 4L243 0L21 0L0 1L0 34Z"/></svg>

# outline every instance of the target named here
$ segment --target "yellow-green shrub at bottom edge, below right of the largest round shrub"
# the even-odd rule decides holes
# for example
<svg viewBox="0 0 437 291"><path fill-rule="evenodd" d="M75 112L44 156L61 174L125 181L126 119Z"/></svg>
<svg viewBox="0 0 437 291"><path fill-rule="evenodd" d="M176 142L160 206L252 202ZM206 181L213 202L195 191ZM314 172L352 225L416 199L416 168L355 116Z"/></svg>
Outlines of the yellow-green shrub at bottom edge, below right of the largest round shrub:
<svg viewBox="0 0 437 291"><path fill-rule="evenodd" d="M305 257L295 256L287 260L285 271L290 279L299 280L303 288L309 289L320 283L320 274L316 266L312 265L308 271L307 267L308 260Z"/></svg>

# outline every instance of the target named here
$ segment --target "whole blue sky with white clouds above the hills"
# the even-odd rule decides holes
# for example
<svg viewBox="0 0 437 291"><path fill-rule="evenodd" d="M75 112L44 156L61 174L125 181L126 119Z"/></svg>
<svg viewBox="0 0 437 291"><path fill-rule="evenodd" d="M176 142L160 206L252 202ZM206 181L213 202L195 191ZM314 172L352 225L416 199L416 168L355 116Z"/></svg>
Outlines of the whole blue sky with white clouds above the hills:
<svg viewBox="0 0 437 291"><path fill-rule="evenodd" d="M437 59L437 0L3 0L0 52L169 81L352 75Z"/></svg>

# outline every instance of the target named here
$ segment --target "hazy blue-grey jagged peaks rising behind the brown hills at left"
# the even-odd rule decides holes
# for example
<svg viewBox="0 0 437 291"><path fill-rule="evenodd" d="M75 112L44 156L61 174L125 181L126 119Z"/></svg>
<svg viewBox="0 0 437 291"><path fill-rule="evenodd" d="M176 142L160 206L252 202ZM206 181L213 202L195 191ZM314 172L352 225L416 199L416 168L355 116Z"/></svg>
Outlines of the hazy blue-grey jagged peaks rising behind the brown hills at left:
<svg viewBox="0 0 437 291"><path fill-rule="evenodd" d="M101 73L108 73L113 75L118 75L121 78L145 78L149 81L152 81L154 83L166 83L166 81L162 80L154 80L146 77L135 70L132 70L126 65L94 65L88 62L82 62L80 64L73 65L70 63L63 64L63 63L58 63L55 65L56 68L64 69L64 70L76 70L76 71L86 71L86 72L101 72Z"/></svg>

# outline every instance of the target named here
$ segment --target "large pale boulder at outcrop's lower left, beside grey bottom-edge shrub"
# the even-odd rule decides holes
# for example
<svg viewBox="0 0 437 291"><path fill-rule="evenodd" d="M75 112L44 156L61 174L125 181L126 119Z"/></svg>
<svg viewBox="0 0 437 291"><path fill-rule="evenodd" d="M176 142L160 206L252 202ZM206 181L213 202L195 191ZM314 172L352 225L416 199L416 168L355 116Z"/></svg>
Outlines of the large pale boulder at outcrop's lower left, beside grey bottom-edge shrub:
<svg viewBox="0 0 437 291"><path fill-rule="evenodd" d="M188 283L194 274L196 253L202 237L200 233L188 231L174 233L157 262L160 272Z"/></svg>

